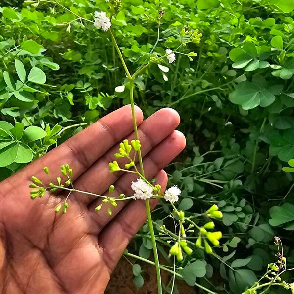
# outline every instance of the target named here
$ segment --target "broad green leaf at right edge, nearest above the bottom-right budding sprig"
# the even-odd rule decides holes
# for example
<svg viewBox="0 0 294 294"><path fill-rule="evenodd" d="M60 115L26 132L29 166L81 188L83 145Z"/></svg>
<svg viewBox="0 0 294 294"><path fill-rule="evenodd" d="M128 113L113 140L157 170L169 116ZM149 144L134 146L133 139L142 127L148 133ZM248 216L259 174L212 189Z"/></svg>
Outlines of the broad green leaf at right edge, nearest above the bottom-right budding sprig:
<svg viewBox="0 0 294 294"><path fill-rule="evenodd" d="M285 203L282 206L273 206L270 209L269 223L271 226L278 226L294 220L294 205Z"/></svg>

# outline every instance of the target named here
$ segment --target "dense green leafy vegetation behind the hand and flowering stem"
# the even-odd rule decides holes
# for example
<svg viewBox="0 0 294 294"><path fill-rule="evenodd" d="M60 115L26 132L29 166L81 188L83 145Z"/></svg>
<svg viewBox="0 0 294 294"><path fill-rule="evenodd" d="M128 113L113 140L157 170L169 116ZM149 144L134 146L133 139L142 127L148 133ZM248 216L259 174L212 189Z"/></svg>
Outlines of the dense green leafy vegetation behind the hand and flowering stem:
<svg viewBox="0 0 294 294"><path fill-rule="evenodd" d="M103 0L58 0L93 18ZM54 3L4 0L0 7L0 127L15 126L0 142L0 180L62 143L99 117L129 103L123 68L109 41L92 24L75 20ZM165 13L158 35L158 11ZM222 245L208 256L200 249L177 266L185 281L218 293L237 294L274 261L274 236L294 266L293 176L282 171L294 158L294 0L123 0L112 20L128 66L175 49L184 26L199 29L193 60L177 54L167 68L148 68L137 79L136 102L146 115L175 108L187 148L167 171L183 190L180 209L195 215L217 204ZM159 36L159 37L158 37ZM184 50L184 52L185 52ZM117 89L118 90L118 89ZM10 124L9 124L10 123ZM1 135L1 129L0 129ZM290 171L290 169L288 169ZM172 265L160 226L172 228L161 203L153 213L161 259ZM195 242L191 233L188 240ZM149 258L145 225L131 245ZM142 284L135 266L135 283ZM287 275L286 275L287 274ZM291 274L285 273L287 281ZM171 285L166 285L169 293ZM278 291L278 292L276 292ZM267 293L288 293L270 288Z"/></svg>

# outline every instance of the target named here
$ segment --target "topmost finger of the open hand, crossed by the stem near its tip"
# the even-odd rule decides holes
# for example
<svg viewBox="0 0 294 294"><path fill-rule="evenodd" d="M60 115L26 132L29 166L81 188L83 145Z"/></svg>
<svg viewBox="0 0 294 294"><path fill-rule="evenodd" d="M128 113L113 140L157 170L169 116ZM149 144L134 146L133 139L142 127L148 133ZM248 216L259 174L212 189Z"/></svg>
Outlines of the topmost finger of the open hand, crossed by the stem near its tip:
<svg viewBox="0 0 294 294"><path fill-rule="evenodd" d="M135 111L137 124L140 124L143 121L143 113L139 107L136 107ZM42 158L29 164L21 172L17 172L11 179L30 181L31 176L34 175L48 185L60 176L60 166L69 164L73 169L74 180L132 130L131 107L126 105L77 133ZM43 172L45 166L49 168L49 176Z"/></svg>

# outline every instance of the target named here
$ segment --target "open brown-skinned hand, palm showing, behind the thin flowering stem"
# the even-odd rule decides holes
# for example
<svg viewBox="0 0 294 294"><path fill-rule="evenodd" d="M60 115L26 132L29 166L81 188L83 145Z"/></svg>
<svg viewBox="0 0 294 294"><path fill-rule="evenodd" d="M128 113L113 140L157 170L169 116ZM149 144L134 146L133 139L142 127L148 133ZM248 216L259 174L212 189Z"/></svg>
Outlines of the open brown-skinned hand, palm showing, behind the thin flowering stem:
<svg viewBox="0 0 294 294"><path fill-rule="evenodd" d="M165 189L167 175L162 170L185 147L185 137L175 131L180 119L172 109L162 109L143 121L136 108L143 162L147 179L156 178ZM54 208L66 194L46 192L30 199L30 178L35 175L45 185L56 182L60 166L73 169L75 189L111 196L132 195L131 173L109 173L118 143L133 139L130 106L103 117L20 172L0 182L0 291L2 294L100 294L124 249L147 219L145 202L119 201L112 215L104 205L94 208L100 198L72 194L66 214ZM123 166L124 159L118 160ZM43 167L49 168L47 176ZM154 208L157 200L150 201ZM155 282L155 281L154 281Z"/></svg>

